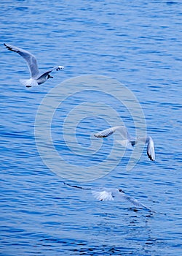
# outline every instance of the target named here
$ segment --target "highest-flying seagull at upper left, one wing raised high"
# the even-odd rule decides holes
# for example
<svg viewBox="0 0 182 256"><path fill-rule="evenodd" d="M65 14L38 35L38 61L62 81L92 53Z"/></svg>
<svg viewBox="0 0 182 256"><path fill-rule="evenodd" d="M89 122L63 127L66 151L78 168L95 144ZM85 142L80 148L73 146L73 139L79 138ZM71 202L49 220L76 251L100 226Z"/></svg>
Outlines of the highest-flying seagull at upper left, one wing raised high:
<svg viewBox="0 0 182 256"><path fill-rule="evenodd" d="M27 62L29 71L31 73L31 78L20 79L20 83L22 83L26 87L38 86L39 84L44 83L47 79L53 78L50 75L50 72L52 72L53 70L58 71L60 69L64 69L63 66L56 66L56 67L53 67L52 69L47 70L47 72L40 74L39 68L36 62L36 58L35 56L33 56L33 54L29 53L27 50L17 48L14 45L9 45L9 44L4 44L4 45L8 50L12 50L15 53L20 54L20 56L22 56L23 59L25 59L25 61Z"/></svg>

